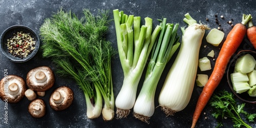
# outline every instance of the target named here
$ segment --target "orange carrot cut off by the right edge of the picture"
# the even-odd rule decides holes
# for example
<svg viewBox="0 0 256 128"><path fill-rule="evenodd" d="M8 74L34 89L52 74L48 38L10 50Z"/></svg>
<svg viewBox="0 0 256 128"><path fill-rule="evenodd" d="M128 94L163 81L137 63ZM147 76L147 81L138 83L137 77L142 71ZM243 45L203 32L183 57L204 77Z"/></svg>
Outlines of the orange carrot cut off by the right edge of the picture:
<svg viewBox="0 0 256 128"><path fill-rule="evenodd" d="M247 37L254 49L256 49L256 26L253 26L252 19L248 22Z"/></svg>

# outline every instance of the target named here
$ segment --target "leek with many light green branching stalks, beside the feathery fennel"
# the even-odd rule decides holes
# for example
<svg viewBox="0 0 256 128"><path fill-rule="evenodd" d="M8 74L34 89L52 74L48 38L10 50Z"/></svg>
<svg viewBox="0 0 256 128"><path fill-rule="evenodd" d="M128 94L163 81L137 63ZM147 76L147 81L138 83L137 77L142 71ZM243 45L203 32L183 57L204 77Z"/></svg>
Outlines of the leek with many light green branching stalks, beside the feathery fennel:
<svg viewBox="0 0 256 128"><path fill-rule="evenodd" d="M140 25L139 16L113 10L119 58L123 70L123 85L116 98L117 118L129 115L134 106L138 83L150 55L160 27L152 33L152 19L145 18Z"/></svg>

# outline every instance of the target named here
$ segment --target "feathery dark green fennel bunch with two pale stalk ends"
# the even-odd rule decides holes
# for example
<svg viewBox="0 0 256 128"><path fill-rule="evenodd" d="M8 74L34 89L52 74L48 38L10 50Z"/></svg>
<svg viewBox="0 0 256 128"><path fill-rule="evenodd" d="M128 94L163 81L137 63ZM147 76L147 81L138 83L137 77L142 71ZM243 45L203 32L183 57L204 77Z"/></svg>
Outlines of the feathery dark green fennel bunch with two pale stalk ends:
<svg viewBox="0 0 256 128"><path fill-rule="evenodd" d="M87 116L100 115L103 97L103 118L111 120L114 116L111 58L116 52L111 42L104 39L111 21L108 11L98 13L94 16L84 9L84 16L78 19L71 11L60 9L40 27L41 49L44 57L52 58L57 73L72 77L83 90Z"/></svg>

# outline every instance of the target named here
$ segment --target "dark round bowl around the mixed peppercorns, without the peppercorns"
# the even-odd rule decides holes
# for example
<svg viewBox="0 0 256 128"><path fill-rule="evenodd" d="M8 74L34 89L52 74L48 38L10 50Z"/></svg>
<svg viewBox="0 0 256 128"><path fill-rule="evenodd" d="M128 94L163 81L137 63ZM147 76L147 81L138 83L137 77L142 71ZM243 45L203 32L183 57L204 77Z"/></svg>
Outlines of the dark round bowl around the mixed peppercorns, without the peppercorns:
<svg viewBox="0 0 256 128"><path fill-rule="evenodd" d="M35 41L35 49L27 56L27 57L15 57L11 53L8 52L8 47L7 47L7 39L10 39L13 36L13 33L17 33L23 31L23 33L29 33L32 38L34 38ZM33 58L35 54L37 53L39 46L40 46L40 40L39 36L29 27L23 26L23 25L15 25L7 28L1 35L0 37L0 42L1 42L1 51L3 54L13 62L26 62Z"/></svg>

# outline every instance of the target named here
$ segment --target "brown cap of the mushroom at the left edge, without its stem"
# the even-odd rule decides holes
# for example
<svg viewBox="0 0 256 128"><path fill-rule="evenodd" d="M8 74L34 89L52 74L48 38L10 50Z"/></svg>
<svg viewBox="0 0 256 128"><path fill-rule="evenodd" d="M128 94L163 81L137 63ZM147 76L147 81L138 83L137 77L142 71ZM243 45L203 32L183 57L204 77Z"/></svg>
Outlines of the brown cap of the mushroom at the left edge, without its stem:
<svg viewBox="0 0 256 128"><path fill-rule="evenodd" d="M16 83L19 88L18 93L15 95L8 93L8 87L12 83ZM17 103L18 101L22 100L22 98L25 96L26 90L26 82L20 76L8 75L0 81L0 97L3 101L7 100L8 103Z"/></svg>

